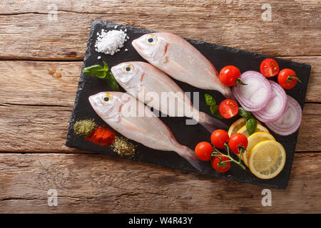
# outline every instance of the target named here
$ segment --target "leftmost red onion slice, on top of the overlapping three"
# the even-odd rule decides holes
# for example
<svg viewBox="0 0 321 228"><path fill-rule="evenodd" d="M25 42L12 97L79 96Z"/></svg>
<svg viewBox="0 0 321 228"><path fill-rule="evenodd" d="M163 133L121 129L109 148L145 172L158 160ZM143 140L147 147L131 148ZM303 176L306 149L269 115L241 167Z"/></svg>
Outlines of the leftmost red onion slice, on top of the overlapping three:
<svg viewBox="0 0 321 228"><path fill-rule="evenodd" d="M250 112L263 109L271 96L269 81L257 71L246 71L241 75L241 80L247 85L233 87L233 95L240 105Z"/></svg>

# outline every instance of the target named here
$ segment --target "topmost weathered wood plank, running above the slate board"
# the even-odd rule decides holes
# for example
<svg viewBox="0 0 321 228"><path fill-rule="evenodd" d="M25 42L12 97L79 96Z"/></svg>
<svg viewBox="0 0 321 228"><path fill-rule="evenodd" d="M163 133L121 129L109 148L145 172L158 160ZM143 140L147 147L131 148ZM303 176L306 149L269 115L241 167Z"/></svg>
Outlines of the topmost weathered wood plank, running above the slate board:
<svg viewBox="0 0 321 228"><path fill-rule="evenodd" d="M1 1L1 59L80 60L93 20L272 56L320 56L320 1ZM266 5L265 5L266 6ZM57 10L53 12L54 10ZM56 15L56 17L55 17ZM293 16L295 15L295 16Z"/></svg>

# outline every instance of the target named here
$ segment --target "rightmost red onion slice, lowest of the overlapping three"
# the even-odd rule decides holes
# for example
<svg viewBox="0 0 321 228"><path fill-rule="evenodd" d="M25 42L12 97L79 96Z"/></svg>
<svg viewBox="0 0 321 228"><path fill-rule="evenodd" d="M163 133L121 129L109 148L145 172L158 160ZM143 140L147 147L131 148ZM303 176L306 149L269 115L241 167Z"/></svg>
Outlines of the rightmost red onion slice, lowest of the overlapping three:
<svg viewBox="0 0 321 228"><path fill-rule="evenodd" d="M267 128L270 128L278 135L291 135L300 128L302 120L302 109L297 100L287 95L287 108L282 117L274 122L265 123Z"/></svg>

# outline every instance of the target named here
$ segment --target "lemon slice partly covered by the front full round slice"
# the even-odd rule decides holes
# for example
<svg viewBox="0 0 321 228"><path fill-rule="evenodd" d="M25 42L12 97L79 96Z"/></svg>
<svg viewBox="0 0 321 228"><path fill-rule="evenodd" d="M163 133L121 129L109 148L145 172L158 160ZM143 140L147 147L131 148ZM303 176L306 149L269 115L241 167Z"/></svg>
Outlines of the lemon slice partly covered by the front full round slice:
<svg viewBox="0 0 321 228"><path fill-rule="evenodd" d="M263 142L266 140L275 140L275 138L270 133L253 133L248 137L248 147L246 147L245 152L243 152L242 160L245 165L248 165L248 160L250 158L251 150L255 145L259 142Z"/></svg>

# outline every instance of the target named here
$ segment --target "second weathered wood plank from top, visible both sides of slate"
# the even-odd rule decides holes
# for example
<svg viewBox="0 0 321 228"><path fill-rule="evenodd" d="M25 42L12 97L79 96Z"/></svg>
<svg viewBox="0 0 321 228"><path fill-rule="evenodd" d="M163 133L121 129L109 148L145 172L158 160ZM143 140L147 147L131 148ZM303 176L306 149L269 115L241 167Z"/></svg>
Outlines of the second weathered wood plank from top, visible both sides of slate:
<svg viewBox="0 0 321 228"><path fill-rule="evenodd" d="M321 57L287 59L312 66L305 101L321 102ZM0 61L0 104L72 107L81 66L82 62ZM62 77L49 75L51 69Z"/></svg>

